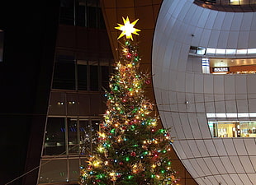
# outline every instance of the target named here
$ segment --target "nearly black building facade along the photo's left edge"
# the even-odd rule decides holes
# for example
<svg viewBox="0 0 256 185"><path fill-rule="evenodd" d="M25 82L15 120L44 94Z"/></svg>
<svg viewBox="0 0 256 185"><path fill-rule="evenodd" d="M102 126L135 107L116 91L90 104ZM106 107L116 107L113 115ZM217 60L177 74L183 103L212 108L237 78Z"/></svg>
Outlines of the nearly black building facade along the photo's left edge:
<svg viewBox="0 0 256 185"><path fill-rule="evenodd" d="M18 177L40 164L59 20L49 2L0 2L0 184L35 184L37 169Z"/></svg>

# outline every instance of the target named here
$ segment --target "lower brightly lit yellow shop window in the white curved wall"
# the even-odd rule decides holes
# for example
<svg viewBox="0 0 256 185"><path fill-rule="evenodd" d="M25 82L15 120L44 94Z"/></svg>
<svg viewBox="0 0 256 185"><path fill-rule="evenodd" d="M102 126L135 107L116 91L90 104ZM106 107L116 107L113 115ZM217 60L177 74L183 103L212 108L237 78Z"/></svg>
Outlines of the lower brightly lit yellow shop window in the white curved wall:
<svg viewBox="0 0 256 185"><path fill-rule="evenodd" d="M256 121L208 122L212 137L256 137Z"/></svg>

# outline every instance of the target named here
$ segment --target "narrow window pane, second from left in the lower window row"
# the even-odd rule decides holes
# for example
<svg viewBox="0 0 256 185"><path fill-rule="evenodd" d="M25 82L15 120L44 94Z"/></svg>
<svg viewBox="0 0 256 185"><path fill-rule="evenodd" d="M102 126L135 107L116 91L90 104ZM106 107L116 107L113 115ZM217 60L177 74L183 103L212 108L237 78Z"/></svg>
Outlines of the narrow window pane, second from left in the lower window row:
<svg viewBox="0 0 256 185"><path fill-rule="evenodd" d="M68 118L68 148L69 154L78 154L79 147L78 147L78 123L77 119Z"/></svg>

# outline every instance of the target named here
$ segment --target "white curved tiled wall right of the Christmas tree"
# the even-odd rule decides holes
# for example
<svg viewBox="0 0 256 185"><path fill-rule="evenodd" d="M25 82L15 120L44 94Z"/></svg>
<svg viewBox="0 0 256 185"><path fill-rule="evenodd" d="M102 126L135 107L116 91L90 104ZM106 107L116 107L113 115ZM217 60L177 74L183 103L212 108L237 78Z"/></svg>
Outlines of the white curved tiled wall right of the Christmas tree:
<svg viewBox="0 0 256 185"><path fill-rule="evenodd" d="M201 58L188 58L191 45L256 48L256 12L217 12L192 2L164 0L159 12L152 70L161 120L172 127L174 149L197 183L256 184L255 138L212 138L206 119L255 113L256 75L202 74Z"/></svg>

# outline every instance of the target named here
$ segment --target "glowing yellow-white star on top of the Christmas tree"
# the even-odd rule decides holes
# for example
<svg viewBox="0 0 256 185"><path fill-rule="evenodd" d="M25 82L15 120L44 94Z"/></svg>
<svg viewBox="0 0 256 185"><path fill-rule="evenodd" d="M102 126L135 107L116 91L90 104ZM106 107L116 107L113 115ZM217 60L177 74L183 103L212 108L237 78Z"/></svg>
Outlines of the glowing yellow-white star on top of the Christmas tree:
<svg viewBox="0 0 256 185"><path fill-rule="evenodd" d="M131 34L135 34L135 35L139 35L137 32L140 31L139 29L134 28L133 26L135 26L135 24L137 23L137 21L139 19L137 19L136 21L133 21L132 23L130 23L129 18L127 16L127 18L125 19L124 17L123 21L124 21L124 25L118 24L118 27L115 27L117 30L121 30L121 35L119 35L119 37L117 39L120 39L122 36L126 35L126 39L132 39L132 35Z"/></svg>

